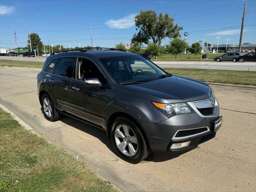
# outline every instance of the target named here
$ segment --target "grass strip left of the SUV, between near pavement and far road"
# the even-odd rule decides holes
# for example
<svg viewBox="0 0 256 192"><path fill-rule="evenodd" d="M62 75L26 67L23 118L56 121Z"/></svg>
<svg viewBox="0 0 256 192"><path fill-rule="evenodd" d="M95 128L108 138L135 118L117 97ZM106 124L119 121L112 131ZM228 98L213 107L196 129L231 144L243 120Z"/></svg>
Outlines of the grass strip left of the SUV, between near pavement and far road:
<svg viewBox="0 0 256 192"><path fill-rule="evenodd" d="M0 66L42 68L44 62L0 60Z"/></svg>

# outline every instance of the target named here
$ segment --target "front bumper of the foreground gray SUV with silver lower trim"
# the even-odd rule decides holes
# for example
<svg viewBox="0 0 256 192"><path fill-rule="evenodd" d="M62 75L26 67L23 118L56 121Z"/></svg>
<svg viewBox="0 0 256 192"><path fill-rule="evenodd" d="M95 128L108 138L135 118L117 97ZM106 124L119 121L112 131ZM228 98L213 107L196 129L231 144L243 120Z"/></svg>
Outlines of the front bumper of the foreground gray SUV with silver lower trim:
<svg viewBox="0 0 256 192"><path fill-rule="evenodd" d="M196 105L207 105L208 100L209 99L201 100L199 101L200 103L198 103L198 101L188 102L188 104L196 111L195 113L176 115L163 122L140 121L140 124L143 126L148 137L151 150L168 153L180 152L195 148L198 144L214 138L216 132L214 132L213 122L220 116L217 100L215 100L214 112L212 115L202 115L196 109ZM188 131L197 128L204 128L204 131L188 136L176 136L178 131ZM170 146L174 143L187 141L191 141L187 147L170 149Z"/></svg>

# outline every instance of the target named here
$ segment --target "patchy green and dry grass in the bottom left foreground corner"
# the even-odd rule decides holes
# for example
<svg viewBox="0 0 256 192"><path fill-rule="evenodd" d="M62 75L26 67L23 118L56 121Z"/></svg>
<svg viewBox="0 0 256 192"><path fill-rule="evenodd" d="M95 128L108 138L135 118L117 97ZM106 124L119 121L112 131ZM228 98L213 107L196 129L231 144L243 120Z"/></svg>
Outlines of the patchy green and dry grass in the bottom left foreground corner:
<svg viewBox="0 0 256 192"><path fill-rule="evenodd" d="M0 109L0 192L116 191L83 162Z"/></svg>

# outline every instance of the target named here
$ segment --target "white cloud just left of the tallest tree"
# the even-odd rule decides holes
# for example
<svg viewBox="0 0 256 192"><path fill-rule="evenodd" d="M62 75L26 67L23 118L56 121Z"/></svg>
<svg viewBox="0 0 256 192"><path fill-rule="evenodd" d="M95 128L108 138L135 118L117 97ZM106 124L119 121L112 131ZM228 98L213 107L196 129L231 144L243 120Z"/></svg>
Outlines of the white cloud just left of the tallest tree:
<svg viewBox="0 0 256 192"><path fill-rule="evenodd" d="M110 28L117 28L117 29L127 29L135 25L134 16L136 14L127 15L121 19L110 19L105 22Z"/></svg>

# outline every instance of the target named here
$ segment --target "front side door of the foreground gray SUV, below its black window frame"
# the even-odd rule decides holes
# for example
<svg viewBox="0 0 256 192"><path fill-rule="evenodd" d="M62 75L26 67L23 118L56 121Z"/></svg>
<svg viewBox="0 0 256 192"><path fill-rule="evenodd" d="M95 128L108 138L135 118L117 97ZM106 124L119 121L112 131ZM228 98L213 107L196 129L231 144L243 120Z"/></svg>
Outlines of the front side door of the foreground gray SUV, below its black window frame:
<svg viewBox="0 0 256 192"><path fill-rule="evenodd" d="M98 78L101 87L86 86L84 80ZM70 97L72 114L105 126L104 111L106 110L107 80L92 60L78 58L76 79L71 81Z"/></svg>

